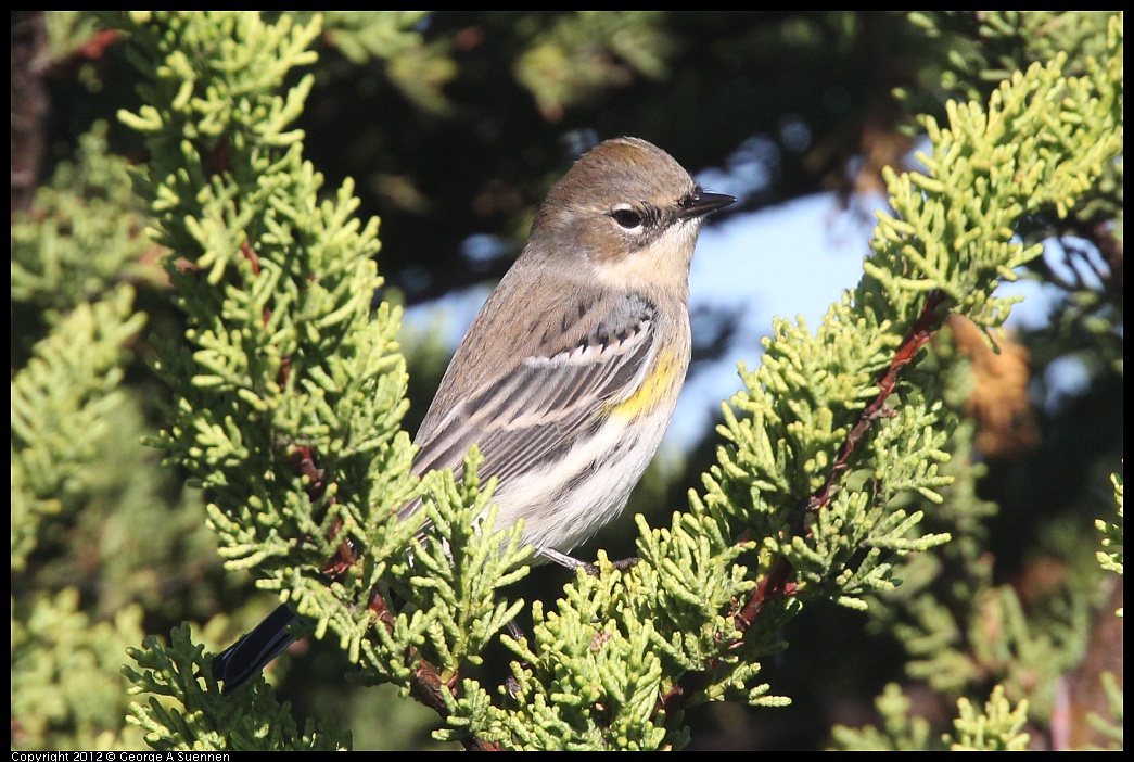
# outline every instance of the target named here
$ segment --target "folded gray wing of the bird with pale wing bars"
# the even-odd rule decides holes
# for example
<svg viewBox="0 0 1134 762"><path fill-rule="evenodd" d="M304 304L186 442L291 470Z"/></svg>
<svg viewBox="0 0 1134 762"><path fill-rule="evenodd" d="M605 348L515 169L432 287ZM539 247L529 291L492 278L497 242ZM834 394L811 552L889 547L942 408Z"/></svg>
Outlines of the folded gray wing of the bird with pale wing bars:
<svg viewBox="0 0 1134 762"><path fill-rule="evenodd" d="M452 404L426 414L414 472L452 468L459 476L473 444L484 458L480 474L501 482L558 457L602 421L604 406L641 384L657 352L657 307L640 296L601 299L586 311L585 325L565 332L558 352L522 357L465 395L455 397L442 382L435 399ZM401 514L415 509L416 501Z"/></svg>

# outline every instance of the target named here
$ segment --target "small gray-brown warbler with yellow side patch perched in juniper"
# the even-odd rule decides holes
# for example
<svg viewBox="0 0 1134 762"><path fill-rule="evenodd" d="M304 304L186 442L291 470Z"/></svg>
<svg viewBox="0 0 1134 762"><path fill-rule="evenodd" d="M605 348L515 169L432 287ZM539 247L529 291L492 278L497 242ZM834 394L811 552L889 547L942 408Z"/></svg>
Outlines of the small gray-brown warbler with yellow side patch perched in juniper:
<svg viewBox="0 0 1134 762"><path fill-rule="evenodd" d="M498 480L496 527L524 519L536 557L567 552L625 507L689 365L689 262L704 217L735 202L634 137L584 154L462 340L415 443L414 472L468 448ZM401 517L420 502L409 503ZM229 692L290 642L281 606L213 660Z"/></svg>

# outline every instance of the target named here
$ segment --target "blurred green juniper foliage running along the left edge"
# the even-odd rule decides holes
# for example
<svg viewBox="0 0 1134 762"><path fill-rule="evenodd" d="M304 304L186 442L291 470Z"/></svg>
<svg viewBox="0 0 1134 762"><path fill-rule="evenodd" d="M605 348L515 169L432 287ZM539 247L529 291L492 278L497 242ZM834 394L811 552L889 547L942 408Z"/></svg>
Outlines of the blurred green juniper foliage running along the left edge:
<svg viewBox="0 0 1134 762"><path fill-rule="evenodd" d="M137 235L142 206L126 162L105 154L104 132L85 135L76 160L39 189L36 213L11 225L11 306L23 329L12 332L10 383L14 748L141 743L122 728L120 666L143 635L135 595L146 583L115 585L116 574L129 577L126 562L105 570L110 590L90 584L129 522L116 515L119 501L153 488L115 467L137 449L139 416L121 384L146 322L124 281L139 276L134 261L151 244ZM87 540L88 524L100 541ZM99 607L111 616L92 615Z"/></svg>

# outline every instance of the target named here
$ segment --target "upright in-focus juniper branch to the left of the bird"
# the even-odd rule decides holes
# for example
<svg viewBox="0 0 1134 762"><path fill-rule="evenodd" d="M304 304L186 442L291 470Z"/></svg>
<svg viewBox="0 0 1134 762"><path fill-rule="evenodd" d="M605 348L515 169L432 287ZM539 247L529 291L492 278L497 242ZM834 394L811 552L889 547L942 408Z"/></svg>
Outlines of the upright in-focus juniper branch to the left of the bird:
<svg viewBox="0 0 1134 762"><path fill-rule="evenodd" d="M352 219L349 187L319 201L286 129L310 76L274 95L316 31L248 14L143 20L135 43L164 64L151 105L124 119L151 135L143 186L180 257L168 269L194 347L163 352L178 399L156 443L205 488L229 568L255 566L357 658L370 590L414 530L389 518L415 486L397 314L370 316L376 220ZM365 562L328 585L340 547Z"/></svg>

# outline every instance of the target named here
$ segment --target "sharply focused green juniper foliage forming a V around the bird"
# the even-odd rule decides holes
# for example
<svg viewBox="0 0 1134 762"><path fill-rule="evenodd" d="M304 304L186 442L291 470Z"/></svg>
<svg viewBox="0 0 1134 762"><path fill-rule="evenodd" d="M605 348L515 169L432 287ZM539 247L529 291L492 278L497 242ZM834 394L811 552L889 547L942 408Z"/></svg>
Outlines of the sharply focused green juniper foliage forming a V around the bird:
<svg viewBox="0 0 1134 762"><path fill-rule="evenodd" d="M896 584L896 559L948 539L920 533L923 513L897 507L909 492L942 500L955 427L941 384L907 364L946 312L1002 323L1012 300L992 289L1040 252L1017 238L1021 218L1067 214L1120 151L1114 64L1068 78L1056 57L1015 74L987 105L950 103L947 126L928 120L928 171L887 176L894 213L879 219L862 282L814 333L779 321L760 369L742 373L704 493L669 528L642 527L636 567L581 573L555 610L536 607L531 636L505 638L521 661L497 693L459 676L519 606L499 593L522 574L509 572L515 533L498 553L489 526L469 531L490 500L472 476L425 483L449 551L414 543L411 561L416 527L391 518L418 488L397 429L397 315L367 315L375 228L352 222L348 187L314 201L320 178L287 132L310 78L274 94L288 68L310 61L314 23L132 20L155 79L142 111L124 118L151 136L143 187L158 240L187 261L170 276L195 347L162 361L179 398L160 444L206 488L230 567L256 568L316 637L338 640L364 680L400 685L439 712L439 737L469 746L680 747L686 706L781 703L755 678L782 647L787 619L816 596L863 608ZM1110 39L1109 60L1120 61L1120 35ZM887 398L885 412L871 406ZM324 572L345 542L361 561ZM380 583L408 590L404 610L384 598L367 608ZM206 710L217 686L186 681L200 664L187 643L172 647L172 695ZM155 649L149 642L139 660L158 663ZM163 683L151 670L138 687L169 694ZM232 698L249 729L255 695ZM993 697L991 720L963 704L955 745L1018 745L1023 710L1001 703ZM225 747L223 735L152 706L138 713L155 746Z"/></svg>

